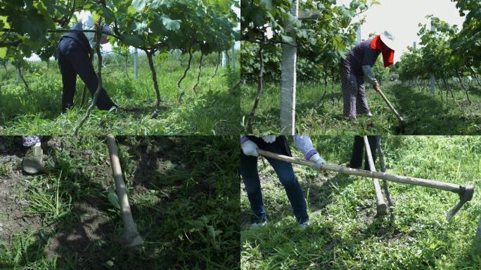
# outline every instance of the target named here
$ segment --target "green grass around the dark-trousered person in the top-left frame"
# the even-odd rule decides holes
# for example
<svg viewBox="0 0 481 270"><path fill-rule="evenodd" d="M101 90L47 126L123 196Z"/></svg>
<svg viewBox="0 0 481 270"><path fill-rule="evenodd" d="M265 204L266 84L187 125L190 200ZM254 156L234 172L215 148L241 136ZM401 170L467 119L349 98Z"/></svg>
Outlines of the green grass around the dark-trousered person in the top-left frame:
<svg viewBox="0 0 481 270"><path fill-rule="evenodd" d="M238 70L232 72L220 67L212 79L217 55L206 56L200 84L194 92L199 57L195 54L191 70L181 83L186 91L181 105L177 105L177 82L184 74L188 56L182 56L181 62L173 54L165 60L155 59L162 98L162 110L155 119L150 118L156 98L146 57L139 56L139 79L133 79L132 57L128 75L123 58L117 63L116 58L106 60L102 69L103 86L121 110L108 113L95 109L79 134L238 134L242 128L239 98L230 90ZM12 66L6 81L5 70L0 70L3 80L0 82L0 134L72 134L86 110L79 109L82 80L77 77L75 108L60 114L62 79L58 65L53 62L32 63L32 66L24 72L31 93L21 80L15 79Z"/></svg>

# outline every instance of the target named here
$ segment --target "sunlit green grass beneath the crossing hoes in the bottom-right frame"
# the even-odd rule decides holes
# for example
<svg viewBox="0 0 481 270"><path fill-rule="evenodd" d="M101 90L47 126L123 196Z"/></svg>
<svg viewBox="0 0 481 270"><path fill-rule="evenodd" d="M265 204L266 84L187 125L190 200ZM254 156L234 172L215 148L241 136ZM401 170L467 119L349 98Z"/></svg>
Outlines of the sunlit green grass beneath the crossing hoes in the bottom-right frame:
<svg viewBox="0 0 481 270"><path fill-rule="evenodd" d="M312 139L328 162L349 161L352 136ZM392 183L390 223L390 217L374 217L371 179L295 165L311 219L301 231L276 174L259 161L268 222L249 229L250 205L242 188L241 269L481 269L474 240L481 218L481 139L387 136L383 146L388 173L472 184L473 200L448 222L446 212L458 195ZM297 150L293 155L302 156Z"/></svg>

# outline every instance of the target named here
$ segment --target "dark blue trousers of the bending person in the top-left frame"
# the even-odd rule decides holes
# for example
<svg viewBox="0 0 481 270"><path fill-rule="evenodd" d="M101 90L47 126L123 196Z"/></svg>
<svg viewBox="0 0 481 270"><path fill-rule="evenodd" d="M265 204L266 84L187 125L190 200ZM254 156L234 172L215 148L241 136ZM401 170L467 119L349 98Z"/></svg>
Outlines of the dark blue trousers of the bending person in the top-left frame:
<svg viewBox="0 0 481 270"><path fill-rule="evenodd" d="M73 106L77 75L84 81L92 96L98 87L98 77L89 55L75 39L63 37L57 46L57 57L63 82L62 113L65 113ZM115 103L108 97L105 89L101 89L96 105L100 110L109 110Z"/></svg>

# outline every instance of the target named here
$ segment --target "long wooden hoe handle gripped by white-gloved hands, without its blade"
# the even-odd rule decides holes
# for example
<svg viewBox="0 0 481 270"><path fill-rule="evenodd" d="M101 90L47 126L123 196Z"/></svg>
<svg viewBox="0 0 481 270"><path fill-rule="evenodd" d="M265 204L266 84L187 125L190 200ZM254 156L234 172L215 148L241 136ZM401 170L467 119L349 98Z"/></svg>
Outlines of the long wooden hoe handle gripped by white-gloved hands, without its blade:
<svg viewBox="0 0 481 270"><path fill-rule="evenodd" d="M338 165L330 165L327 163L324 163L322 165L316 165L315 162L312 162L310 160L288 157L286 155L278 155L276 153L271 153L271 152L260 150L260 149L257 150L257 153L264 155L265 157L268 157L268 158L274 158L276 160L282 160L282 161L297 164L297 165L309 166L309 167L312 167L312 169L316 169L318 171L333 171L333 172L339 172L341 174L357 175L357 176L371 177L376 179L385 179L387 181L392 181L396 183L411 184L414 186L426 186L428 188L437 188L437 189L442 189L443 191L451 191L454 193L459 193L459 191L461 190L460 185L445 183L441 181L428 180L428 179L409 177L409 176L400 176L395 174L387 174L385 172L371 172L371 171L366 171L364 169L353 169L353 168L342 167ZM466 189L473 188L473 186L465 186L465 187Z"/></svg>

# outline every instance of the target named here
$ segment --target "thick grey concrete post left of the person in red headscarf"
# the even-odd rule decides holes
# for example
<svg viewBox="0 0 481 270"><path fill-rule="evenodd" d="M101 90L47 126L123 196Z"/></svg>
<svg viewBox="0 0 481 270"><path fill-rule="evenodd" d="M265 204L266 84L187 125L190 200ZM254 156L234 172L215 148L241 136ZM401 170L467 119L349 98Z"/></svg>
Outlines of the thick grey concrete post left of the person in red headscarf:
<svg viewBox="0 0 481 270"><path fill-rule="evenodd" d="M293 1L290 13L296 18L299 15L299 1ZM286 32L293 30L292 23L286 25ZM281 64L281 134L295 134L295 84L297 47L293 44L282 44Z"/></svg>

